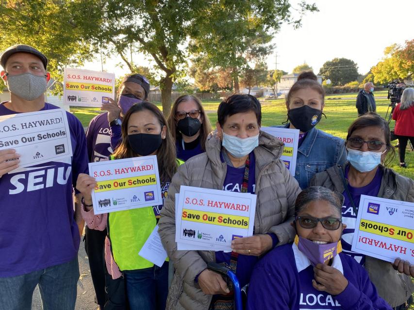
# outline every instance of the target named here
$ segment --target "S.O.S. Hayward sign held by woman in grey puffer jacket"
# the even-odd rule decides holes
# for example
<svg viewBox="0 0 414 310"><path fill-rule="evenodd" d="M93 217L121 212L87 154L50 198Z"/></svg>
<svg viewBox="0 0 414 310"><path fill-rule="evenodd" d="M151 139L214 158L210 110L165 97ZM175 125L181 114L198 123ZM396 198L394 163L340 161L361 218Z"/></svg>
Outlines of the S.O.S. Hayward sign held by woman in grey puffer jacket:
<svg viewBox="0 0 414 310"><path fill-rule="evenodd" d="M178 244L226 251L233 239L253 235L256 195L181 186L177 207Z"/></svg>

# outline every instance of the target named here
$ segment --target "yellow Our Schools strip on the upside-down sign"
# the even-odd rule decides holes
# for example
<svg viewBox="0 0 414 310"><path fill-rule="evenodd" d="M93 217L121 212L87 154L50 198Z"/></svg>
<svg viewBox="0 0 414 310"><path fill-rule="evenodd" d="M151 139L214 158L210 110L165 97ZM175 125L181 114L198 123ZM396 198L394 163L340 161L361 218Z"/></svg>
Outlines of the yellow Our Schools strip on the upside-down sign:
<svg viewBox="0 0 414 310"><path fill-rule="evenodd" d="M360 231L363 231L363 232L374 233L380 236L414 243L414 239L413 239L414 230L409 229L409 228L392 226L388 224L382 224L382 223L362 219L359 229Z"/></svg>

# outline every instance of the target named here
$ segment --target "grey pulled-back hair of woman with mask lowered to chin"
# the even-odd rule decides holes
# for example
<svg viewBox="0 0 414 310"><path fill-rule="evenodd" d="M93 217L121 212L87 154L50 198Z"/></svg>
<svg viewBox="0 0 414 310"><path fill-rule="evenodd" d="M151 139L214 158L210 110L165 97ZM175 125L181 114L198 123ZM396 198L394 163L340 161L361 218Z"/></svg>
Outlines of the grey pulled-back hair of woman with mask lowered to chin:
<svg viewBox="0 0 414 310"><path fill-rule="evenodd" d="M339 197L329 188L323 186L310 186L301 191L296 198L295 214L298 215L303 209L308 206L309 203L319 200L329 202L332 208L336 213L338 213L339 217L341 218L343 199L344 196Z"/></svg>

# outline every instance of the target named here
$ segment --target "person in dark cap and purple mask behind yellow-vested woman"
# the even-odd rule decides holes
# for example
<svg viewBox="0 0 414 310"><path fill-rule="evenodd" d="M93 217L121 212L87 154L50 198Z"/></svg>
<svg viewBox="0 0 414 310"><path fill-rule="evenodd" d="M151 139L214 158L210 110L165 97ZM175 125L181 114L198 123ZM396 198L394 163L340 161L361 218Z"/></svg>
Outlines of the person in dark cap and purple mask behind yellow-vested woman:
<svg viewBox="0 0 414 310"><path fill-rule="evenodd" d="M95 116L89 123L86 131L86 143L90 162L108 160L109 155L113 153L111 134L113 134L113 140L115 141L115 149L118 140L121 139L120 124L124 115L132 105L146 100L148 93L149 81L144 76L134 73L123 78L118 88L116 101L108 98L107 102L102 104L101 107L102 110L107 112ZM111 295L120 298L120 294L123 294L122 290L116 293L112 290L112 288L122 287L116 282L123 281L123 279L112 279L107 272L104 273L105 261L102 252L105 236L106 230L98 231L89 229L88 226L85 227L85 250L88 254L96 300L101 309L103 309L105 301L109 304L112 303Z"/></svg>

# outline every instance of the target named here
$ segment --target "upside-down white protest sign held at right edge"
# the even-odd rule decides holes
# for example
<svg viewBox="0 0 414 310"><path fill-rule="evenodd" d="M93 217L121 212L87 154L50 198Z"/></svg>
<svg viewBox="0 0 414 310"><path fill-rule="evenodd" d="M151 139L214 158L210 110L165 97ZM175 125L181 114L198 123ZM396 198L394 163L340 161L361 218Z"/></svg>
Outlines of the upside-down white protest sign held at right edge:
<svg viewBox="0 0 414 310"><path fill-rule="evenodd" d="M361 195L352 251L414 263L414 203Z"/></svg>

